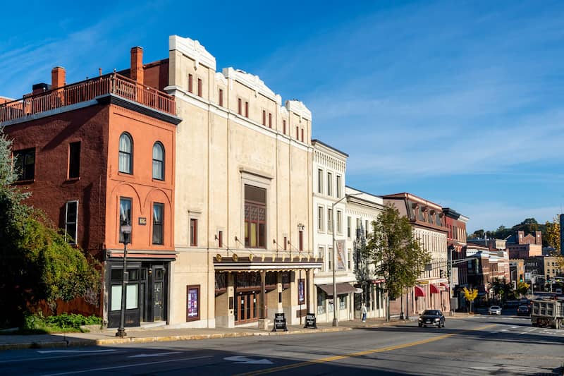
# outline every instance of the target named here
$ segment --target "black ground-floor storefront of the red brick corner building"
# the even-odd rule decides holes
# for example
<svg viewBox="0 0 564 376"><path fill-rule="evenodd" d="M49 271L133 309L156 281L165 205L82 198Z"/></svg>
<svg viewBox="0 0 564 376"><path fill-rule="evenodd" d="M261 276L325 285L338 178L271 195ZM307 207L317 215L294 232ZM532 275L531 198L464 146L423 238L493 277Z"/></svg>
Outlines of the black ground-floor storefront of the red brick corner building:
<svg viewBox="0 0 564 376"><path fill-rule="evenodd" d="M168 286L170 261L142 260L128 257L129 273L126 288L125 327L138 327L142 322L168 320ZM106 264L108 327L119 327L123 260Z"/></svg>

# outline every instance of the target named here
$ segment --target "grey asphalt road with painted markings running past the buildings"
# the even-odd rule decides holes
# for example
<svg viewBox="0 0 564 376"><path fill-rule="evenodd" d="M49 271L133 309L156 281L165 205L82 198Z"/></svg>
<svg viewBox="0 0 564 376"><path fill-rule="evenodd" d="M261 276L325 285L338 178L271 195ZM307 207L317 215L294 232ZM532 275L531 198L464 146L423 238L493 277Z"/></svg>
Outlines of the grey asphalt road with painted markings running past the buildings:
<svg viewBox="0 0 564 376"><path fill-rule="evenodd" d="M0 375L562 375L564 330L528 317L349 332L0 352Z"/></svg>

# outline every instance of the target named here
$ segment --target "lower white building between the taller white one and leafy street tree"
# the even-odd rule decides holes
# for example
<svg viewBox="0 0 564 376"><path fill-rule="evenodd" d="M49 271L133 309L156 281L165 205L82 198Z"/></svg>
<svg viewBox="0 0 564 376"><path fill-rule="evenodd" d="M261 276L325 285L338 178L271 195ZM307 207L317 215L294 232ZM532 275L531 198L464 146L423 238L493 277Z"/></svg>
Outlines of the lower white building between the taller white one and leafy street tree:
<svg viewBox="0 0 564 376"><path fill-rule="evenodd" d="M353 272L354 269L366 269L365 283L357 281L356 284L357 289L361 291L355 293L355 318L362 317L363 301L367 307L367 317L386 317L384 278L375 274L372 260L363 260L361 255L355 255L355 243L362 242L363 236L368 241L372 235L372 222L376 221L384 210L384 200L351 187L345 187L345 195L347 195L347 253L352 263L350 268Z"/></svg>

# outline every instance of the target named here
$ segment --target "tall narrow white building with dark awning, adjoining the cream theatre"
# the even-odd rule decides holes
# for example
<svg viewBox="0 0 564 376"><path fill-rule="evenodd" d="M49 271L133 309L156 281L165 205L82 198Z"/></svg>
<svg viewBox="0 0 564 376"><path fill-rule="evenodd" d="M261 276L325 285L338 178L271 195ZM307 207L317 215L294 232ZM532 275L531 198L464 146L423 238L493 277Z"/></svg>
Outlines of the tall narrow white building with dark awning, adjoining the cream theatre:
<svg viewBox="0 0 564 376"><path fill-rule="evenodd" d="M339 321L353 320L355 273L352 254L345 245L345 172L348 154L319 140L312 140L312 146L313 249L316 257L325 260L314 277L317 286L317 321L332 322L333 317ZM333 248L338 251L333 253ZM337 288L336 313L333 307L333 272Z"/></svg>

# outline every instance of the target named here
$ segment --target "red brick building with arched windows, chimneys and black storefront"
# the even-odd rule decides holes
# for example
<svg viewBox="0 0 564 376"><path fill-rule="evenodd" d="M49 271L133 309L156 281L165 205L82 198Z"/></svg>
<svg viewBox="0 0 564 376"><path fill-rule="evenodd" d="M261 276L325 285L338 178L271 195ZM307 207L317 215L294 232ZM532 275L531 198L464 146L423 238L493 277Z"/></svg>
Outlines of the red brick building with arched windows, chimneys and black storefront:
<svg viewBox="0 0 564 376"><path fill-rule="evenodd" d="M61 310L97 313L109 327L118 326L125 222L132 226L126 325L167 320L180 119L174 99L157 90L166 75L168 61L144 66L134 47L121 74L66 85L56 67L50 85L0 104L0 126L21 168L18 185L32 192L27 203L102 262L101 296Z"/></svg>

